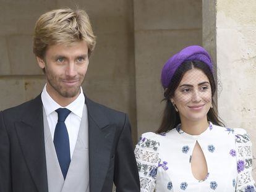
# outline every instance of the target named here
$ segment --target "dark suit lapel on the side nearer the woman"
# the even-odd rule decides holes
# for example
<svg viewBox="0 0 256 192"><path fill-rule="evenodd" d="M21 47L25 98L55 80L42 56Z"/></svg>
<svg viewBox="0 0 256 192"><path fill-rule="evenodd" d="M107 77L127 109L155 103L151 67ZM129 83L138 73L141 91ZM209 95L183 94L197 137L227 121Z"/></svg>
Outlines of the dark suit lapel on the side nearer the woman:
<svg viewBox="0 0 256 192"><path fill-rule="evenodd" d="M101 191L108 172L115 127L98 104L85 96L88 110L90 191Z"/></svg>

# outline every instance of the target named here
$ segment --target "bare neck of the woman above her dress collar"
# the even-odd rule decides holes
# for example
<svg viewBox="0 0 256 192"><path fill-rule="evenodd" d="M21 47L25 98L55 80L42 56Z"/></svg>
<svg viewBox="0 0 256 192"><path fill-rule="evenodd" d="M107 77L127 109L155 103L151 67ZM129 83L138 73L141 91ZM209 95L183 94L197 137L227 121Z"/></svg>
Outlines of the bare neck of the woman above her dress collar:
<svg viewBox="0 0 256 192"><path fill-rule="evenodd" d="M181 129L189 135L200 135L203 131L207 130L209 123L207 118L198 121L191 121L181 118Z"/></svg>

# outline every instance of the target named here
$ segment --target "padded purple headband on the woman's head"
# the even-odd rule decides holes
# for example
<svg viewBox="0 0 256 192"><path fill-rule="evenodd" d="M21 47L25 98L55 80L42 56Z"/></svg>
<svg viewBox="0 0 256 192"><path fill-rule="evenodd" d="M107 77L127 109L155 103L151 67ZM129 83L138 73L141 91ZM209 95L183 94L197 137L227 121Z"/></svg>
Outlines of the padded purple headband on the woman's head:
<svg viewBox="0 0 256 192"><path fill-rule="evenodd" d="M207 64L211 72L213 72L213 64L211 63L211 57L208 52L201 46L188 46L169 58L164 64L161 73L161 81L164 89L168 88L177 68L185 61L202 61Z"/></svg>

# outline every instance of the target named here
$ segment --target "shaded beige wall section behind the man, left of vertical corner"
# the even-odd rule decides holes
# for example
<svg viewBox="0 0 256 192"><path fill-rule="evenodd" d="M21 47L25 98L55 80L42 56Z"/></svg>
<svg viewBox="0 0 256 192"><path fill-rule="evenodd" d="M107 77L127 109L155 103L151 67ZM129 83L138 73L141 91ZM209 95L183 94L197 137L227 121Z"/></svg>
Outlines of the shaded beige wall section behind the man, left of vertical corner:
<svg viewBox="0 0 256 192"><path fill-rule="evenodd" d="M90 98L129 114L137 141L133 2L0 1L0 110L38 95L45 79L32 52L35 22L51 9L87 10L97 44L83 88Z"/></svg>

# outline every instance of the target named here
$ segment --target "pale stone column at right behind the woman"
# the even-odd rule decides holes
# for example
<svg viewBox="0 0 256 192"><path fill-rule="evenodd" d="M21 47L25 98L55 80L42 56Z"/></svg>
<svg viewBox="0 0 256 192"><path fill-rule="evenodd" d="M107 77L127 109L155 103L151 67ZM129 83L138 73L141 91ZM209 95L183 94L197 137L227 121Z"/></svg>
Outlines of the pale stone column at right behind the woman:
<svg viewBox="0 0 256 192"><path fill-rule="evenodd" d="M256 1L202 2L203 46L219 71L218 112L227 127L248 131L256 178Z"/></svg>

